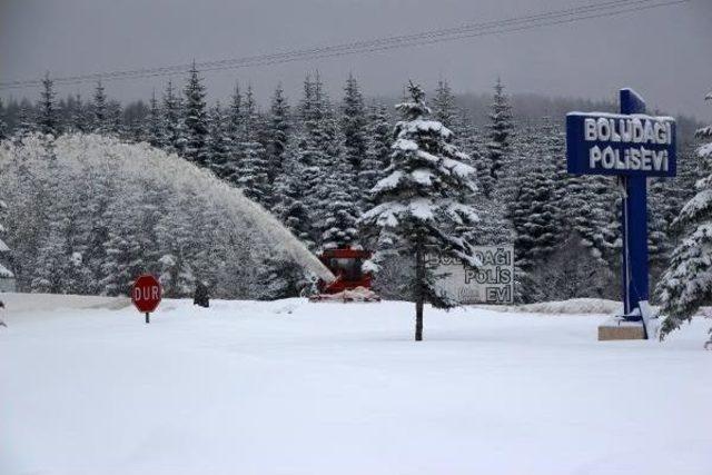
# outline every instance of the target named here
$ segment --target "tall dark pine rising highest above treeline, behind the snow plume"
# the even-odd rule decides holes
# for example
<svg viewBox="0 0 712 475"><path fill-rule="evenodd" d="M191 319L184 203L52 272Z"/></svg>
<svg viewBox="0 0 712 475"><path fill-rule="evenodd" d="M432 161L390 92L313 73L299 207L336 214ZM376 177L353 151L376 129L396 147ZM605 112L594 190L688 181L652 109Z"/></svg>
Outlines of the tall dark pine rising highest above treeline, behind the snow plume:
<svg viewBox="0 0 712 475"><path fill-rule="evenodd" d="M205 103L205 86L196 69L196 62L188 71L188 82L184 90L186 96L185 126L186 148L185 157L199 167L208 166L208 121Z"/></svg>

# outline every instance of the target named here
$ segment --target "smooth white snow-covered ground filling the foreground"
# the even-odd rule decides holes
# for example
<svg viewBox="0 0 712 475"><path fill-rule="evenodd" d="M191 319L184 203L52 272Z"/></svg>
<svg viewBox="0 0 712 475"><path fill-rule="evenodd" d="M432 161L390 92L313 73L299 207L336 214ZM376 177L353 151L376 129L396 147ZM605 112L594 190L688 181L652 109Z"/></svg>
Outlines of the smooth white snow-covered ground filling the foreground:
<svg viewBox="0 0 712 475"><path fill-rule="evenodd" d="M709 320L3 295L0 474L710 474Z"/></svg>

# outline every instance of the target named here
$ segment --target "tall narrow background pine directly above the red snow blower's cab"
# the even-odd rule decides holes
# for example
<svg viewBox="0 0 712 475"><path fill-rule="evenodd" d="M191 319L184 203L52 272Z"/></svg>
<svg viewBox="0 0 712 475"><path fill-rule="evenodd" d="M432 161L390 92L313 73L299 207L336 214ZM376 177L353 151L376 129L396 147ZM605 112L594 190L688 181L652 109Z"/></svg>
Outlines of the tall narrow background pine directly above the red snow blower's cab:
<svg viewBox="0 0 712 475"><path fill-rule="evenodd" d="M340 118L342 135L344 137L344 154L350 164L356 178L360 177L363 160L366 157L368 147L366 110L364 108L364 97L358 88L358 82L353 75L348 75L344 87L344 100L342 102ZM349 184L352 186L354 184ZM357 184L354 187L356 196L352 199L363 202L366 196L366 184Z"/></svg>

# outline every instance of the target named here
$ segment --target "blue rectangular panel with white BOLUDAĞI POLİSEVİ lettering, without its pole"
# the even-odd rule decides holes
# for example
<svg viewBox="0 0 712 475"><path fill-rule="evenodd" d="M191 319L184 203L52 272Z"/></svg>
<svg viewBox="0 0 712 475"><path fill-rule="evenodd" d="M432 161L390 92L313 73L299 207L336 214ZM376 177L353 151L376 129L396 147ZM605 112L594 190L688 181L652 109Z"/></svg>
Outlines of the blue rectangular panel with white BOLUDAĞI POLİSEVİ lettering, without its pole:
<svg viewBox="0 0 712 475"><path fill-rule="evenodd" d="M674 177L675 121L642 113L566 115L570 174Z"/></svg>

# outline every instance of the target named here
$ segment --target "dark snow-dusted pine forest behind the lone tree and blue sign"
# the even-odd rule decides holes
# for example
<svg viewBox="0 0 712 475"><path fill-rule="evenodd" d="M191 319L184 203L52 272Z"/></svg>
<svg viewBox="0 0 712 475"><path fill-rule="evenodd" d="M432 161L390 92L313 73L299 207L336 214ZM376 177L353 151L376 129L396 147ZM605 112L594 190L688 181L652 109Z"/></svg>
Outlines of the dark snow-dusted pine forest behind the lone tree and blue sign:
<svg viewBox="0 0 712 475"><path fill-rule="evenodd" d="M251 88L236 85L224 101L207 103L195 68L185 83L167 82L148 100L122 106L98 83L89 98L58 100L51 79L34 102L0 105L0 138L32 131L111 135L151 146L211 170L277 216L310 249L363 245L357 220L369 190L385 176L399 119L388 98L366 99L349 76L338 99L318 73L306 77L298 100L280 86L260 109ZM615 182L565 171L565 111L614 110L586 100L510 98L500 81L493 95L455 95L447 81L429 97L432 118L477 170L478 244L514 243L518 298L613 297L620 250ZM679 177L650 187L652 274L668 263L678 237L670 228L693 192L698 170L694 121L681 121ZM393 263L398 269L398 263ZM404 297L398 271L384 266L380 291Z"/></svg>

